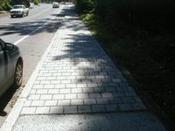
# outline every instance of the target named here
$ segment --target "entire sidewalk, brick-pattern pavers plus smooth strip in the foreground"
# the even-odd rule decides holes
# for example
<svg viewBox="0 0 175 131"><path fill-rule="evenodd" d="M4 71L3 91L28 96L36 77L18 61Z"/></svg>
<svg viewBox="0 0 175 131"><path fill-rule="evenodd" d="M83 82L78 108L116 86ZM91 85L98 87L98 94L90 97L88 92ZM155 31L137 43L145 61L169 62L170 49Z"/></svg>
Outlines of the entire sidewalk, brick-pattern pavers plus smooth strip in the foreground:
<svg viewBox="0 0 175 131"><path fill-rule="evenodd" d="M117 116L117 119L109 119L108 123L113 125L111 129L109 125L107 127L109 127L109 130L116 130L113 128L115 124L120 127L120 125L114 123L116 120L116 122L119 122L124 119L126 121L135 119L135 115L124 114L123 116L120 114L121 112L146 111L143 102L122 76L120 70L114 66L98 42L78 19L73 11L73 6L65 6L62 15L59 15L59 20L62 21L62 26L57 31L41 66L38 68L37 75L30 83L30 89L14 130L24 130L25 126L21 126L19 123L26 119L30 121L28 121L29 123L38 121L38 126L43 131L66 130L59 127L48 129L43 124L43 119L47 120L47 124L51 121L54 121L54 123L60 123L61 121L48 120L45 118L47 116L42 115L50 115L58 119L68 117L74 123L74 120L77 119L84 121L81 115L87 113L90 115L89 121L99 121L102 127L102 123L107 120L107 113L114 113L112 116ZM100 113L98 114L100 119L95 118L97 113ZM109 115L112 117L111 114ZM149 118L154 119L154 122L145 123L142 118L139 118L139 113L136 113L136 116L136 123L133 123L133 121L128 123L133 123L134 128L132 130L164 130L161 123L149 113L148 115L144 114L146 117L142 116L142 118L145 121L147 118L148 121ZM62 120L65 120L65 118ZM142 124L145 124L140 125L138 123L140 120ZM58 123L57 126L60 126ZM71 125L71 122L69 124ZM128 124L118 130L125 131L127 129L129 131L131 128L130 126L127 127ZM98 127L98 122L95 125ZM91 123L91 127L94 128L95 125L93 122ZM35 129L38 130L37 127ZM71 130L71 128L67 128L67 130ZM72 130L93 129L72 128ZM98 127L94 130L102 129Z"/></svg>

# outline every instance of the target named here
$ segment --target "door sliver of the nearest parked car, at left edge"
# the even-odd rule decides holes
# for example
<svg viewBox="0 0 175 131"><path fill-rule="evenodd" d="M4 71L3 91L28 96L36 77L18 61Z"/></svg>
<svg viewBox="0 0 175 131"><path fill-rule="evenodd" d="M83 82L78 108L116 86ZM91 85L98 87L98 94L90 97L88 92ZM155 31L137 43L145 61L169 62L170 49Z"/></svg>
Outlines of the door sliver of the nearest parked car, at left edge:
<svg viewBox="0 0 175 131"><path fill-rule="evenodd" d="M5 87L6 80L6 60L3 51L3 42L0 40L0 90ZM1 92L1 91L0 91Z"/></svg>

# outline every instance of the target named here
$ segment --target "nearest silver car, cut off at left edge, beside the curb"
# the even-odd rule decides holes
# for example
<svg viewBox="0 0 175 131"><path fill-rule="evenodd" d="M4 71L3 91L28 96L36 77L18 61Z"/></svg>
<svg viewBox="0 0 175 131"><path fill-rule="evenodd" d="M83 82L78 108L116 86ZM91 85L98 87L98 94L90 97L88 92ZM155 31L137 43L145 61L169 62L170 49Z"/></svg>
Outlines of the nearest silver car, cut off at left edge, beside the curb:
<svg viewBox="0 0 175 131"><path fill-rule="evenodd" d="M23 59L19 48L0 39L0 96L11 87L20 87Z"/></svg>

